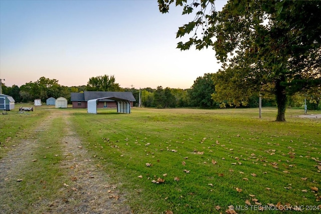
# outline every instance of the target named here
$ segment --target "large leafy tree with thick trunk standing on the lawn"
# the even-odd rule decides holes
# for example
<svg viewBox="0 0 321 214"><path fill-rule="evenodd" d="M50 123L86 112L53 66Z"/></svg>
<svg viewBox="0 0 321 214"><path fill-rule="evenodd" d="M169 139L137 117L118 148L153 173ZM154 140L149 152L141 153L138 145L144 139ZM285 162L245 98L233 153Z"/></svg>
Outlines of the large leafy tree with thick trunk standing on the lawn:
<svg viewBox="0 0 321 214"><path fill-rule="evenodd" d="M183 7L195 19L179 28L178 48L212 47L222 71L236 81L234 90L255 86L269 89L278 106L277 121L285 121L287 97L321 82L320 1L228 1L222 11L214 0L158 0L159 11ZM237 86L240 86L237 87ZM223 87L223 86L222 86ZM251 92L252 93L252 92Z"/></svg>

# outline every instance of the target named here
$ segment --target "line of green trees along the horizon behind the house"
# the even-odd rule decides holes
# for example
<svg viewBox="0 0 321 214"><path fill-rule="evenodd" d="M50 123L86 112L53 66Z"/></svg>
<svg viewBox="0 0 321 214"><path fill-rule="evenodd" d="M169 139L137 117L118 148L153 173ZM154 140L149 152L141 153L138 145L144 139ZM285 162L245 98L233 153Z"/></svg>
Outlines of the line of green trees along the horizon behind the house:
<svg viewBox="0 0 321 214"><path fill-rule="evenodd" d="M62 86L58 80L41 77L35 82L29 82L21 87L13 85L7 87L3 84L3 93L12 96L16 102L33 102L41 99L46 102L49 97L65 97L69 102L71 92L84 91L127 91L132 92L138 106L139 97L141 106L151 108L235 108L235 107L258 107L260 92L243 94L233 87L233 82L229 83L220 77L219 73L207 73L198 77L189 89L163 88L158 86L152 88L121 88L116 83L113 75L103 75L92 77L87 85L82 86ZM221 86L224 85L224 89ZM262 106L276 106L276 100L272 93L262 94ZM308 110L320 110L321 88L297 92L289 98L288 106L303 107L306 99Z"/></svg>

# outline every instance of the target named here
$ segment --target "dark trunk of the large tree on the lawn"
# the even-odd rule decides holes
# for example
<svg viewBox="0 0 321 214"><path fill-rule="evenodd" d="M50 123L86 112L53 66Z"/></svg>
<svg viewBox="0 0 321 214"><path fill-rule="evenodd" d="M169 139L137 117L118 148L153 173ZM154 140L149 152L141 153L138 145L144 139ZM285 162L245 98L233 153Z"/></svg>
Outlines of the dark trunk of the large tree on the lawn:
<svg viewBox="0 0 321 214"><path fill-rule="evenodd" d="M285 110L287 105L287 97L285 93L285 86L282 85L284 82L284 76L281 76L280 79L276 80L275 83L275 96L276 96L276 104L277 104L277 116L276 121L285 121Z"/></svg>

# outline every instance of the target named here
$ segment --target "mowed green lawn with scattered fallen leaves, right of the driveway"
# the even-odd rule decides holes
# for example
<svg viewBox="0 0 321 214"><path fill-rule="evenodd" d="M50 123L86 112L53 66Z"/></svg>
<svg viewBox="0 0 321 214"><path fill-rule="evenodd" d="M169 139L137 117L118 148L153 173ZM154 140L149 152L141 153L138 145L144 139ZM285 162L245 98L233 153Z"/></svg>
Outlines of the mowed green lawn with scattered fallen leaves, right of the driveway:
<svg viewBox="0 0 321 214"><path fill-rule="evenodd" d="M288 109L282 123L274 122L274 108L264 108L261 119L258 109L137 108L74 110L72 118L134 213L220 213L229 205L257 213L257 204L279 202L317 213L321 120L302 113ZM165 181L152 182L158 178Z"/></svg>

